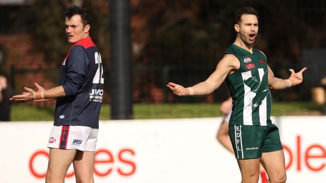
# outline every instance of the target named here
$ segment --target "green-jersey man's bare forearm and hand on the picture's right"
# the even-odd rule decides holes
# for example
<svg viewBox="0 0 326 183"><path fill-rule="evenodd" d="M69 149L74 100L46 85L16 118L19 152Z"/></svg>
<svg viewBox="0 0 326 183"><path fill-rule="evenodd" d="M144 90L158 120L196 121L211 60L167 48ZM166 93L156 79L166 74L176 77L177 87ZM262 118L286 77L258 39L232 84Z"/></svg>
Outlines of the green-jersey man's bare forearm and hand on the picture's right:
<svg viewBox="0 0 326 183"><path fill-rule="evenodd" d="M303 67L299 72L294 72L293 69L289 69L291 75L288 79L281 79L274 76L272 69L268 67L268 84L271 89L285 89L297 84L300 84L303 80L302 72L307 69L307 67Z"/></svg>

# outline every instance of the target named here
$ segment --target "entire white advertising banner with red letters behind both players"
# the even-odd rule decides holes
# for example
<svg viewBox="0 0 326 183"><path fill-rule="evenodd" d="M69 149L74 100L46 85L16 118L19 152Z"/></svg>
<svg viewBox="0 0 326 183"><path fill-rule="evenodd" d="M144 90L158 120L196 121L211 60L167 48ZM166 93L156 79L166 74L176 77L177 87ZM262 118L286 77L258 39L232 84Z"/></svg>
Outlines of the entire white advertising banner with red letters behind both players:
<svg viewBox="0 0 326 183"><path fill-rule="evenodd" d="M326 117L274 117L287 182L326 182ZM216 140L221 118L100 121L95 182L240 182L234 155ZM44 182L52 122L0 123L1 182ZM75 182L70 167L65 182Z"/></svg>

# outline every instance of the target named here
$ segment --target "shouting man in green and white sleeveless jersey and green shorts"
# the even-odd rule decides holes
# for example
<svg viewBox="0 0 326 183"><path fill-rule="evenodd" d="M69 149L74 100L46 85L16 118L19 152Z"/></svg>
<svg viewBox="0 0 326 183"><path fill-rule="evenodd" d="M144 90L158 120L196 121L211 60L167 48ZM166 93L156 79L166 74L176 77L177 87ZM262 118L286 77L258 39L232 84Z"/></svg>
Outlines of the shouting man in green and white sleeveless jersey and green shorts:
<svg viewBox="0 0 326 183"><path fill-rule="evenodd" d="M258 13L252 7L235 12L236 40L203 82L191 87L169 82L180 96L206 95L227 81L232 100L229 136L242 175L242 182L258 182L259 162L266 169L268 182L285 182L285 162L278 128L270 120L269 89L285 89L302 82L302 72L291 71L288 79L274 76L265 54L253 48L258 33Z"/></svg>

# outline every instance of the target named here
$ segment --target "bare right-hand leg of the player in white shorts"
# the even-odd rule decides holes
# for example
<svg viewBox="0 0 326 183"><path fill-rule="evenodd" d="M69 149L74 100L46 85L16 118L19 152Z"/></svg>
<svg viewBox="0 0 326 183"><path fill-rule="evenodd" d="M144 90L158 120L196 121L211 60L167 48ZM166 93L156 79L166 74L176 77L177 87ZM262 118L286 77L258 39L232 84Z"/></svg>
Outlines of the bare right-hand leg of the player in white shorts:
<svg viewBox="0 0 326 183"><path fill-rule="evenodd" d="M95 151L77 150L73 161L77 183L93 183Z"/></svg>

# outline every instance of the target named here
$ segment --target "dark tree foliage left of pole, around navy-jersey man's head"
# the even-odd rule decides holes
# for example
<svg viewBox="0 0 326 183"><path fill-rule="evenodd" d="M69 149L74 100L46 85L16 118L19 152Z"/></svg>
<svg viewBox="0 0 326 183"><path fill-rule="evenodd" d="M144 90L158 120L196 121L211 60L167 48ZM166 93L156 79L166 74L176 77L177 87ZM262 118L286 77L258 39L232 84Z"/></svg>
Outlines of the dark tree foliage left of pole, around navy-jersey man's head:
<svg viewBox="0 0 326 183"><path fill-rule="evenodd" d="M78 1L91 14L91 37L106 53L102 57L108 57L106 0L35 0L30 8L23 9L24 25L35 38L35 50L45 54L49 65L60 65L68 53L71 45L65 33L64 13L68 6Z"/></svg>

